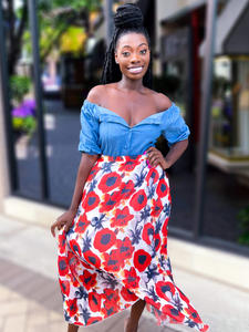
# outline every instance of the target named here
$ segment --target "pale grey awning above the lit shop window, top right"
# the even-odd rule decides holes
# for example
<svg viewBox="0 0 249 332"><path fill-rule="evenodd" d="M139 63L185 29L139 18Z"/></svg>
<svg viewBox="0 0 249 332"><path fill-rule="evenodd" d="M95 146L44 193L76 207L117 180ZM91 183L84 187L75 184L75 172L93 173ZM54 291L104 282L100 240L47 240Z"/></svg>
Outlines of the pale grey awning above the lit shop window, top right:
<svg viewBox="0 0 249 332"><path fill-rule="evenodd" d="M249 0L230 0L217 18L215 55L249 54ZM204 56L206 41L199 48Z"/></svg>

